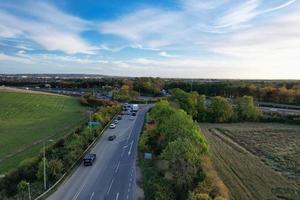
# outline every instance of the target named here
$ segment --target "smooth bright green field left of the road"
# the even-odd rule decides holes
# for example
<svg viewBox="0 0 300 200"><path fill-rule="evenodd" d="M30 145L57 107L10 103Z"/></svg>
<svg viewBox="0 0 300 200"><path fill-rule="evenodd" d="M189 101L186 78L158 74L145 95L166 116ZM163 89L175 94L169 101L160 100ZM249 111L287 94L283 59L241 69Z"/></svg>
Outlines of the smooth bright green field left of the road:
<svg viewBox="0 0 300 200"><path fill-rule="evenodd" d="M84 120L78 99L0 90L0 174Z"/></svg>

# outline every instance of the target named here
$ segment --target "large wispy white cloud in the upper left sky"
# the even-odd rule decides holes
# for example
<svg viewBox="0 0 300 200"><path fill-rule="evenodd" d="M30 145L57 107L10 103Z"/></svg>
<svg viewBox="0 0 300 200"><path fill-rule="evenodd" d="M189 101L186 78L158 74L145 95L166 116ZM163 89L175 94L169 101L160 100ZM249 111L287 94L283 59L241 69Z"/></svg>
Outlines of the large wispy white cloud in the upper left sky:
<svg viewBox="0 0 300 200"><path fill-rule="evenodd" d="M95 47L80 37L80 33L89 28L89 22L40 2L13 9L22 10L30 17L12 15L8 11L0 10L1 37L23 37L46 50L66 53L93 53L95 50Z"/></svg>

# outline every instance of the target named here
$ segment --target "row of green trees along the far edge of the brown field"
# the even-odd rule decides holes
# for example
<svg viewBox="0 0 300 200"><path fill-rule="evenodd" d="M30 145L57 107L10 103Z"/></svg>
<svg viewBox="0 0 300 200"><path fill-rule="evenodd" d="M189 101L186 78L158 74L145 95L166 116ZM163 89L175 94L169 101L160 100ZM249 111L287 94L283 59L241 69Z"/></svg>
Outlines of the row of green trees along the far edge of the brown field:
<svg viewBox="0 0 300 200"><path fill-rule="evenodd" d="M234 105L221 96L207 99L205 95L178 88L171 90L171 94L170 101L199 122L258 121L262 116L250 96L239 97Z"/></svg>

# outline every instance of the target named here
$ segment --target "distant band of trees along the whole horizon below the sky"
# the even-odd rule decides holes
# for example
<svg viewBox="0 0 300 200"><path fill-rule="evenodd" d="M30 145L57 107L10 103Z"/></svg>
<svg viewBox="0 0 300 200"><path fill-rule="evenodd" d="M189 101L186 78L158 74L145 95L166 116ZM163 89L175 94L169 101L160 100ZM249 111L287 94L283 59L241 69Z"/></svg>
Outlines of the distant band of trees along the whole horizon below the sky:
<svg viewBox="0 0 300 200"><path fill-rule="evenodd" d="M141 96L159 96L162 89L180 88L186 92L196 91L206 96L229 98L252 96L257 101L300 105L300 81L246 81L222 80L208 82L203 80L161 79L161 78L102 78L102 79L34 79L0 80L0 85L40 86L45 83L57 88L102 88L120 89L126 85ZM121 96L123 98L124 96Z"/></svg>

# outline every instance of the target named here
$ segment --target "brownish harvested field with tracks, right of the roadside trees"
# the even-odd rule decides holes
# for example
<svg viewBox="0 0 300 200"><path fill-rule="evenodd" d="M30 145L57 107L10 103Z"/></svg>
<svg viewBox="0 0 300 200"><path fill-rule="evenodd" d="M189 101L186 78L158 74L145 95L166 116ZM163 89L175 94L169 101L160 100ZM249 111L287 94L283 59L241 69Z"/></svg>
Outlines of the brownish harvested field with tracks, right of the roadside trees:
<svg viewBox="0 0 300 200"><path fill-rule="evenodd" d="M201 124L212 160L232 199L300 197L300 127Z"/></svg>

